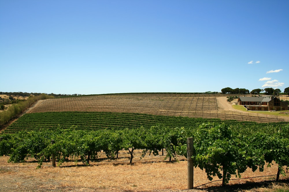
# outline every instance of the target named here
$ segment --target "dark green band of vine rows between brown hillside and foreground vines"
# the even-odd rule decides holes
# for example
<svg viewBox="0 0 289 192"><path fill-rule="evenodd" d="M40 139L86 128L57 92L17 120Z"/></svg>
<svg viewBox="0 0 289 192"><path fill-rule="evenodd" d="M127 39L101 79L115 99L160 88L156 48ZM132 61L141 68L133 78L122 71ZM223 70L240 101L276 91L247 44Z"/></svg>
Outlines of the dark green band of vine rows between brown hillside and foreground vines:
<svg viewBox="0 0 289 192"><path fill-rule="evenodd" d="M242 134L252 134L256 131L272 133L278 131L277 126L288 124L280 123L256 123L252 121L235 121L220 119L202 119L190 117L173 117L160 115L146 115L138 113L111 113L111 112L45 112L29 113L12 123L3 133L16 133L21 130L46 130L56 129L60 125L64 129L72 125L81 130L122 130L135 129L143 126L150 128L156 124L168 127L196 127L198 123L218 122L226 123Z"/></svg>

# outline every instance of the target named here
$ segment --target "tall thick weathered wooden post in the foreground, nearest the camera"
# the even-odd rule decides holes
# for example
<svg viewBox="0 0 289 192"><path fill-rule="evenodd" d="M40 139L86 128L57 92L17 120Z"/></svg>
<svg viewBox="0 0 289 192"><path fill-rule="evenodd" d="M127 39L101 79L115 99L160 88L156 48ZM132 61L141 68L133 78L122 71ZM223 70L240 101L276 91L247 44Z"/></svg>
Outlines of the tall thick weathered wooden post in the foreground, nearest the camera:
<svg viewBox="0 0 289 192"><path fill-rule="evenodd" d="M188 159L188 189L194 188L194 138L187 138L187 159Z"/></svg>

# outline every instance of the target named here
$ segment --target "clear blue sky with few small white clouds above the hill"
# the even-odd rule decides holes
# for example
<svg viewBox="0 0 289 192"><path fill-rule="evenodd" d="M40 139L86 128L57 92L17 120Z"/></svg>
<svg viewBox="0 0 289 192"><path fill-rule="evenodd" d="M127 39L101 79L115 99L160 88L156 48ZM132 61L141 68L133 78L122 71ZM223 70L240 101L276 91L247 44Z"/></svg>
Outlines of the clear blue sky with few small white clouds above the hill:
<svg viewBox="0 0 289 192"><path fill-rule="evenodd" d="M0 0L0 91L289 87L289 1Z"/></svg>

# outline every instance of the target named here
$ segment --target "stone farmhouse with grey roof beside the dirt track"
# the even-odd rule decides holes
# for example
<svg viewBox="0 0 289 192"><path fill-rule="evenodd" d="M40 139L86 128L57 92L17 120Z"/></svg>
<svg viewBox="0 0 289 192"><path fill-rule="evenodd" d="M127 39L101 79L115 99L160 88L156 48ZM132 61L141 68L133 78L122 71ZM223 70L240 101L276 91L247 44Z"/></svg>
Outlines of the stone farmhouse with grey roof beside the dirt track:
<svg viewBox="0 0 289 192"><path fill-rule="evenodd" d="M289 110L288 105L278 97L275 96L258 96L258 97L245 97L238 98L239 105L244 105L251 111L284 111Z"/></svg>

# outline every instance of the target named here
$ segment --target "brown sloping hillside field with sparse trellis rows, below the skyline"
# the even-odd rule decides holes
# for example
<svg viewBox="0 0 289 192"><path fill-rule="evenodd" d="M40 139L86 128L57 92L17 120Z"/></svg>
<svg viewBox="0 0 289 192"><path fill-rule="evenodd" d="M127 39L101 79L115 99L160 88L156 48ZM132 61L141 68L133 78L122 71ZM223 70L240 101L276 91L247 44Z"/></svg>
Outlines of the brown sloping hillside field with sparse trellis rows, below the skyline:
<svg viewBox="0 0 289 192"><path fill-rule="evenodd" d="M280 122L284 118L224 111L211 94L121 94L54 98L40 101L28 113L85 111L217 118L222 120Z"/></svg>

